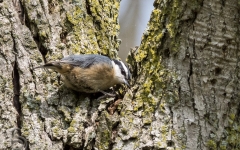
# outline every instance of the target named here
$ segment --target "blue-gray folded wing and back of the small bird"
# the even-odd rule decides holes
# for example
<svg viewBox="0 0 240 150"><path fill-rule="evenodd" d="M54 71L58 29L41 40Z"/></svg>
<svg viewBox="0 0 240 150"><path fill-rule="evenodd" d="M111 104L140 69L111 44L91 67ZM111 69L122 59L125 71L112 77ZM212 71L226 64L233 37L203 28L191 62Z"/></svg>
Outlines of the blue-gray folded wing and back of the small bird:
<svg viewBox="0 0 240 150"><path fill-rule="evenodd" d="M81 68L89 68L92 65L100 63L107 63L109 65L112 65L111 59L109 57L95 54L70 55L61 59L60 62L71 64L73 66L79 66Z"/></svg>

